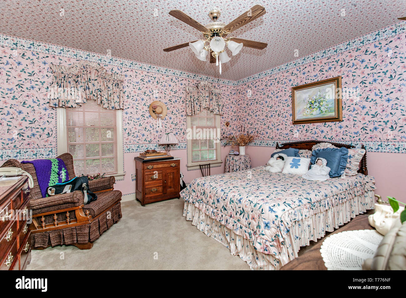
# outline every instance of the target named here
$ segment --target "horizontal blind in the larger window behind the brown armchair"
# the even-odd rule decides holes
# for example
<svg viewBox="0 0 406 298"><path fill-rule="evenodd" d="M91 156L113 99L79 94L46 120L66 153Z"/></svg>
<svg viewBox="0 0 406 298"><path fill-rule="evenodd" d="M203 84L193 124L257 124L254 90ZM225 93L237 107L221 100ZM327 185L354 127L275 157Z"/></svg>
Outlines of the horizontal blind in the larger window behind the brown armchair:
<svg viewBox="0 0 406 298"><path fill-rule="evenodd" d="M77 176L117 174L117 111L95 101L66 108L67 152L73 156Z"/></svg>

